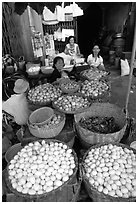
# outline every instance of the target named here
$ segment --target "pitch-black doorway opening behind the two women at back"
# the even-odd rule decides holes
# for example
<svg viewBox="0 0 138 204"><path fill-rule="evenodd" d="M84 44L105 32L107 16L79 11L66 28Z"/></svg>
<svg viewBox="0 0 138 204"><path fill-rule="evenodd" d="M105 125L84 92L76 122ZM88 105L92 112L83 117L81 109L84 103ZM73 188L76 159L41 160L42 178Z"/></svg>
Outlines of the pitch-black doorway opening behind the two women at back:
<svg viewBox="0 0 138 204"><path fill-rule="evenodd" d="M77 18L77 27L80 51L87 58L102 27L102 9L99 5L95 2L89 4L84 15Z"/></svg>

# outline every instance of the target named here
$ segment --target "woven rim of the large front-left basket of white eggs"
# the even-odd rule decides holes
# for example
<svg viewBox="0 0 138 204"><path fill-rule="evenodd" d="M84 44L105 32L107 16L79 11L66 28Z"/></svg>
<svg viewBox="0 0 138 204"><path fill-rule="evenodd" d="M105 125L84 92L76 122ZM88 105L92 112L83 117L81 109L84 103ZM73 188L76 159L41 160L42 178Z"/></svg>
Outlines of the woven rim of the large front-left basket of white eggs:
<svg viewBox="0 0 138 204"><path fill-rule="evenodd" d="M45 140L46 143L50 143L50 142L62 143L62 144L67 145L67 149L72 149L72 148L70 148L70 147L68 146L68 144L66 144L65 142L62 142L62 141L59 141L59 140L56 140L56 139L49 139L49 138L48 138L48 139L45 139L45 138L43 138L43 139L38 139L38 140L36 140L36 141L41 142L41 141L43 141L43 140ZM36 141L32 141L32 142L30 142L30 143L34 143L34 142L36 142ZM29 143L28 143L28 144L29 144ZM28 145L28 144L27 144L27 145ZM25 146L27 146L27 145L25 145ZM25 147L25 146L24 146L24 147ZM23 148L24 148L24 147L23 147ZM21 151L21 150L20 150L20 151ZM63 188L65 185L67 185L67 184L70 182L70 180L75 176L75 174L77 173L77 171L78 171L78 157L77 157L77 154L76 154L76 152L74 151L74 149L72 149L72 152L73 152L74 160L75 160L75 163L76 163L74 172L73 172L73 174L70 176L70 178L69 178L66 182L64 182L61 186L59 186L58 188L56 188L56 189L54 189L54 190L52 190L52 191L50 191L50 192L40 194L40 195L29 195L29 194L23 194L23 193L21 193L21 192L18 192L16 189L14 189L14 188L12 187L11 182L10 182L10 180L9 180L9 178L8 178L8 175L9 175L9 174L8 174L8 167L9 167L9 165L10 165L10 163L9 163L9 164L7 165L7 167L6 167L6 183L7 183L7 185L9 186L9 189L10 189L13 193L15 193L15 195L22 196L22 197L26 197L26 198L29 198L29 199L37 199L38 197L41 198L41 197L44 197L44 196L48 196L48 195L50 195L50 194L54 194L56 191L58 191L59 189Z"/></svg>

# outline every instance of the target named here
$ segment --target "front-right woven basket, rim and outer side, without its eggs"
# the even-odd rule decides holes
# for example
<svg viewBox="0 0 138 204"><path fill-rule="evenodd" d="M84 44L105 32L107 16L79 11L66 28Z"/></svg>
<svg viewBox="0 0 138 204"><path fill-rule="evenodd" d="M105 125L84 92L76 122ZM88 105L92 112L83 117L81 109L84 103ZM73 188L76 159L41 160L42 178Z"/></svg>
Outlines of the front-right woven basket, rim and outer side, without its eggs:
<svg viewBox="0 0 138 204"><path fill-rule="evenodd" d="M105 143L106 144L109 144L109 143ZM122 148L128 148L130 150L133 150L134 153L136 153L136 151L133 149L133 148L130 148L129 146L125 145L125 144L118 144L118 143L110 143L110 144L114 144L114 145L117 145L117 146L120 146ZM113 197L113 196L110 196L110 195L106 195L104 194L103 192L99 192L96 188L92 187L92 185L89 183L89 180L88 178L86 177L85 175L85 172L84 172L84 160L86 158L86 156L88 155L89 151L91 149L95 149L95 148L98 148L98 147L101 147L103 146L104 144L100 144L100 145L94 145L92 146L83 156L83 160L82 160L82 164L80 165L81 166L81 174L82 174L82 180L83 180L83 183L85 185L85 188L86 188L86 191L88 192L88 195L90 196L90 198L93 200L93 202L136 202L136 198L135 197L131 197L131 198L122 198L122 197Z"/></svg>

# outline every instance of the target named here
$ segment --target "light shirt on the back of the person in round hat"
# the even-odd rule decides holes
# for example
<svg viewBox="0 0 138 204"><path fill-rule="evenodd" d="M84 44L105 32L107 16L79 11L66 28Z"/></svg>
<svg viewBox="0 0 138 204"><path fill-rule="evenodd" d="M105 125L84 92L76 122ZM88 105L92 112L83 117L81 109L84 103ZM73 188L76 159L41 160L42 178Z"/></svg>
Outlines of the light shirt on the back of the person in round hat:
<svg viewBox="0 0 138 204"><path fill-rule="evenodd" d="M25 125L29 117L26 95L14 94L3 102L2 110L12 115L18 125Z"/></svg>

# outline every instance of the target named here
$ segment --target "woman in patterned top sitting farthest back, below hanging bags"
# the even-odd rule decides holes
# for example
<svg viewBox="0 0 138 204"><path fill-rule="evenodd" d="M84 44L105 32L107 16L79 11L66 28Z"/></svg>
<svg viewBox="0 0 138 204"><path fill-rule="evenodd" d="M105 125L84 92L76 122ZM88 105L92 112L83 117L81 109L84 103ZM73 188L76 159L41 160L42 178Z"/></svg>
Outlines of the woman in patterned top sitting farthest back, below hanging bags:
<svg viewBox="0 0 138 204"><path fill-rule="evenodd" d="M75 43L74 36L70 36L68 38L68 44L65 47L64 53L72 57L82 57L82 54L80 54L79 45Z"/></svg>

